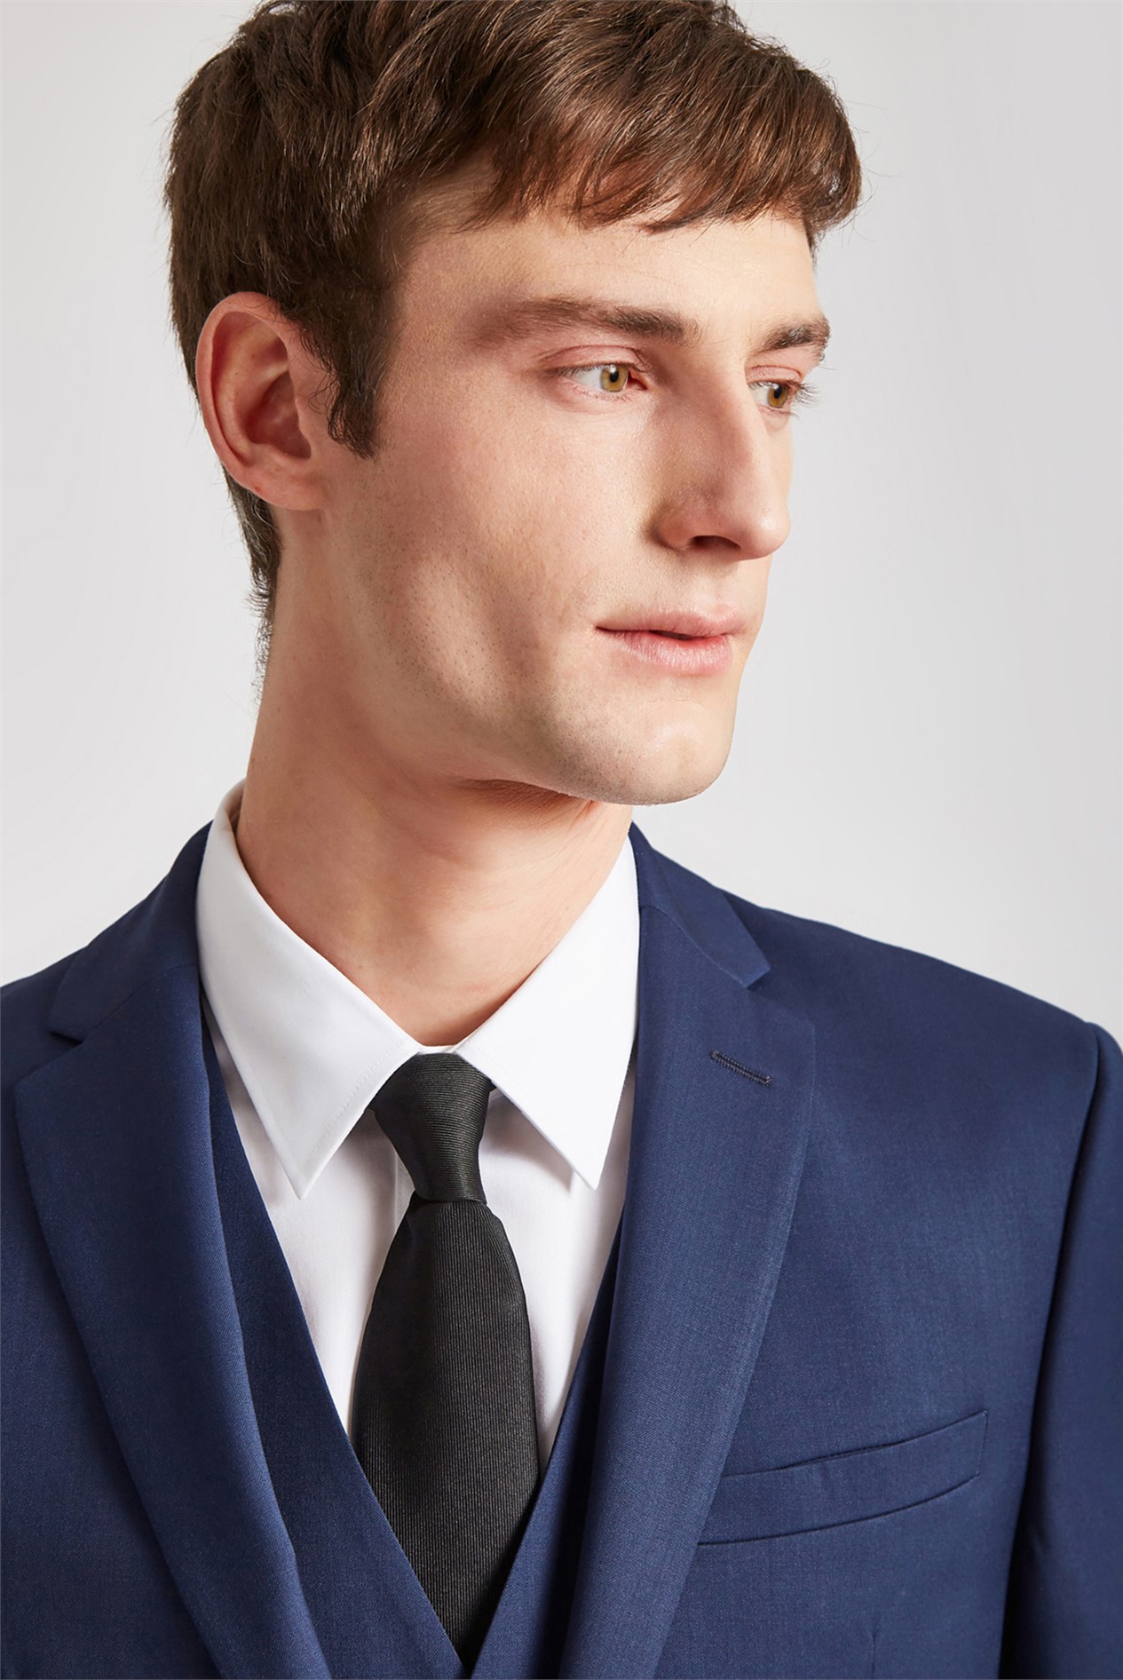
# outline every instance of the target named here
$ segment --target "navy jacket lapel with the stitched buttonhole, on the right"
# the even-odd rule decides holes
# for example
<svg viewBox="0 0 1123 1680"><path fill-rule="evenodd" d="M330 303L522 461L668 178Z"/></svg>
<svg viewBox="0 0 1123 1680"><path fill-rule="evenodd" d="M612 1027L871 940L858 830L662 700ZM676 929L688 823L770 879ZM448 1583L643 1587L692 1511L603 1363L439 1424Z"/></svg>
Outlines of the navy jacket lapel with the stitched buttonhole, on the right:
<svg viewBox="0 0 1123 1680"><path fill-rule="evenodd" d="M814 1028L723 894L633 827L640 1028L619 1272L562 1675L653 1675L745 1401L807 1144Z"/></svg>

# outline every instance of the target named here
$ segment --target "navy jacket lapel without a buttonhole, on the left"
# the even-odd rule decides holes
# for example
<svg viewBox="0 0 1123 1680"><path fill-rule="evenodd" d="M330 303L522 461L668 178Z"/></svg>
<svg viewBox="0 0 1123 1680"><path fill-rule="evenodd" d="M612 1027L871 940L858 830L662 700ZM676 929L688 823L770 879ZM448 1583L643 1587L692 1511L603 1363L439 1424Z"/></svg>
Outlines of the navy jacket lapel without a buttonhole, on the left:
<svg viewBox="0 0 1123 1680"><path fill-rule="evenodd" d="M205 830L81 953L17 1089L50 1257L168 1567L223 1675L327 1675L262 1453L210 1146Z"/></svg>

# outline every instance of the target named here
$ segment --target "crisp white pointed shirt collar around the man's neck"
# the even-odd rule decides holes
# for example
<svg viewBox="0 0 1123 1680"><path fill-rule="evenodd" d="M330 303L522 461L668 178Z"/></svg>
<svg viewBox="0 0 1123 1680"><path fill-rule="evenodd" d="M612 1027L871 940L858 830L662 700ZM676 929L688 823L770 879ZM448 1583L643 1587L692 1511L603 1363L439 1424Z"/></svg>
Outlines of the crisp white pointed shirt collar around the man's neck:
<svg viewBox="0 0 1123 1680"><path fill-rule="evenodd" d="M389 1075L426 1048L260 895L222 800L198 877L200 976L289 1183L304 1196ZM492 1080L596 1189L638 1020L631 845L577 921L475 1032L448 1048Z"/></svg>

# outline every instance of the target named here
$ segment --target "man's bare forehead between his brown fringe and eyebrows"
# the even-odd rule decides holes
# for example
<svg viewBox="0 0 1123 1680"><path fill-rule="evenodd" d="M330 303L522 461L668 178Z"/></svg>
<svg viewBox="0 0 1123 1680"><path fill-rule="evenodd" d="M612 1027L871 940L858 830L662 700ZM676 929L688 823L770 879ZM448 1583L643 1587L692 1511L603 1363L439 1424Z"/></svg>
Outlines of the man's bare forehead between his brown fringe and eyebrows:
<svg viewBox="0 0 1123 1680"><path fill-rule="evenodd" d="M651 232L646 223L655 218L650 212L594 227L557 210L535 210L478 228L463 228L453 217L435 220L406 269L401 324L460 334L487 329L490 309L499 311L494 324L502 328L505 306L564 294L675 311L697 324L697 336L819 316L801 222L764 215ZM692 338L687 334L688 344Z"/></svg>

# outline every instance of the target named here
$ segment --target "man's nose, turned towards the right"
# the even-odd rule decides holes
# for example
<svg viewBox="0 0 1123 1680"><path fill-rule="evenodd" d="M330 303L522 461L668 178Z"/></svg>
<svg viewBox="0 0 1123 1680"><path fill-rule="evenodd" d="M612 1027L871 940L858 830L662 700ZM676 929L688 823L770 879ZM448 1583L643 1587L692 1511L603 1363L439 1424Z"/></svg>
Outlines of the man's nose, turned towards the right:
<svg viewBox="0 0 1123 1680"><path fill-rule="evenodd" d="M660 437L656 541L729 559L774 554L791 531L789 432L747 383L693 398Z"/></svg>

